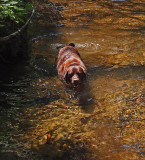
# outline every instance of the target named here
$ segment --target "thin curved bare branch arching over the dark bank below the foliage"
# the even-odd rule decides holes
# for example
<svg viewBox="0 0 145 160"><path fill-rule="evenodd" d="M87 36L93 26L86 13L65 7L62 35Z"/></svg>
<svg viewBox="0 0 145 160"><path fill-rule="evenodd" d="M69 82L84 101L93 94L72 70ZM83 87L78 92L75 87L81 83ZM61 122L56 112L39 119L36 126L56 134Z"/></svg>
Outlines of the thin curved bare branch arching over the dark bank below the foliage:
<svg viewBox="0 0 145 160"><path fill-rule="evenodd" d="M27 22L26 22L19 30L17 30L16 32L14 32L14 33L12 33L12 34L10 34L10 35L8 35L8 36L0 37L0 42L7 41L7 40L9 40L11 37L16 36L17 34L19 34L19 33L27 26L27 24L30 22L30 20L31 20L32 17L33 17L34 12L35 12L35 9L33 9L30 18L27 20Z"/></svg>

